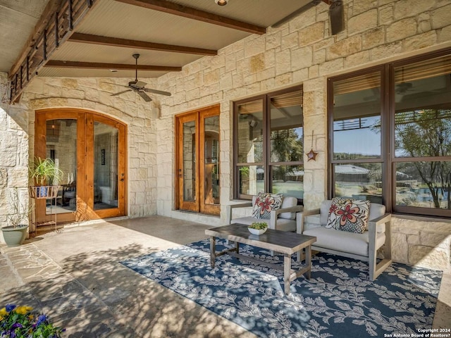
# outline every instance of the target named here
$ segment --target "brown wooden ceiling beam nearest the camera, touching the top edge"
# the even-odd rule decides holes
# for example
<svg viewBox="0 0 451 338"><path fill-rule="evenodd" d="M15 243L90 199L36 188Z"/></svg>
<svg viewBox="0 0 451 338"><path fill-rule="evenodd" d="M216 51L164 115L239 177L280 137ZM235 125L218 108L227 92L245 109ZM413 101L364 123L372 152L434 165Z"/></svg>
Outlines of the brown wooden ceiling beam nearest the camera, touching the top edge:
<svg viewBox="0 0 451 338"><path fill-rule="evenodd" d="M140 6L154 11L161 11L173 15L183 16L193 20L203 21L204 23L211 23L222 27L233 28L234 30L242 30L252 34L264 35L266 33L265 27L252 25L250 23L243 23L239 20L226 18L225 16L216 15L199 9L175 4L171 1L165 0L116 0L124 4ZM211 0L213 1L213 0Z"/></svg>

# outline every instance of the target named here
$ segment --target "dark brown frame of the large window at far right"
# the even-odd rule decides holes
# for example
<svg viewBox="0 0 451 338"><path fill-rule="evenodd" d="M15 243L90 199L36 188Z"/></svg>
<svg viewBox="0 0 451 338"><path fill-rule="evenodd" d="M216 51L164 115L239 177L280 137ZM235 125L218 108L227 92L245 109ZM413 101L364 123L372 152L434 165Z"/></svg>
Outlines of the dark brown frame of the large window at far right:
<svg viewBox="0 0 451 338"><path fill-rule="evenodd" d="M419 56L412 56L402 60L383 63L370 68L364 68L351 73L328 77L327 79L327 118L328 118L328 198L334 197L335 175L333 165L337 163L382 163L382 201L388 213L399 213L407 215L427 215L438 217L450 217L451 210L443 208L421 208L414 206L396 205L396 168L397 163L417 162L417 161L451 161L451 156L428 156L428 157L396 157L395 156L395 69L402 65L409 65L431 58L439 58L451 54L451 49L433 51ZM333 159L333 103L334 92L333 83L351 79L364 74L381 72L381 160L378 158L334 160Z"/></svg>

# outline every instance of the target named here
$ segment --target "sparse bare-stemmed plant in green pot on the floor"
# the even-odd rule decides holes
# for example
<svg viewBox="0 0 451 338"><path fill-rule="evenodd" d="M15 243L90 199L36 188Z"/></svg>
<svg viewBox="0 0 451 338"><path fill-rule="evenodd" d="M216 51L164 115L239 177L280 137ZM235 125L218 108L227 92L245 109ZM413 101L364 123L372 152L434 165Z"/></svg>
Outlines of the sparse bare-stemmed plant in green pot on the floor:
<svg viewBox="0 0 451 338"><path fill-rule="evenodd" d="M2 227L3 237L8 246L19 246L27 237L29 217L33 210L32 205L22 201L18 187L14 187L9 199L10 211L6 215L8 225Z"/></svg>

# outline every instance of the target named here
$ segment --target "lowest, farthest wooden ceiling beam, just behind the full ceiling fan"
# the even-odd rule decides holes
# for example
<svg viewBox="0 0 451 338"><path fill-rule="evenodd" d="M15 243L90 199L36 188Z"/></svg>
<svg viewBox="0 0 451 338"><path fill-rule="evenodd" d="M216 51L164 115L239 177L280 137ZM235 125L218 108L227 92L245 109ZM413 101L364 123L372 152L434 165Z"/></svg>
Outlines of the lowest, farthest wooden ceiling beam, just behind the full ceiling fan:
<svg viewBox="0 0 451 338"><path fill-rule="evenodd" d="M78 62L49 60L44 65L46 68L87 68L87 69L132 69L135 70L156 70L166 72L180 72L181 67L169 65L125 65L123 63L98 63L98 62Z"/></svg>

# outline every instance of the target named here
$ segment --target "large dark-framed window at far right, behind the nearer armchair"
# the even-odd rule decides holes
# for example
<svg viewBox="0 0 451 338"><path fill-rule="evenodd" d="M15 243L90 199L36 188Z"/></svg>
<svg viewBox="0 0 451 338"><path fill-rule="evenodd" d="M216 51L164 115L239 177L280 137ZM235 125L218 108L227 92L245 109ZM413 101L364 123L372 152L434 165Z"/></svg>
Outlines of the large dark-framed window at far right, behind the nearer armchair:
<svg viewBox="0 0 451 338"><path fill-rule="evenodd" d="M329 79L330 195L451 216L451 51Z"/></svg>

